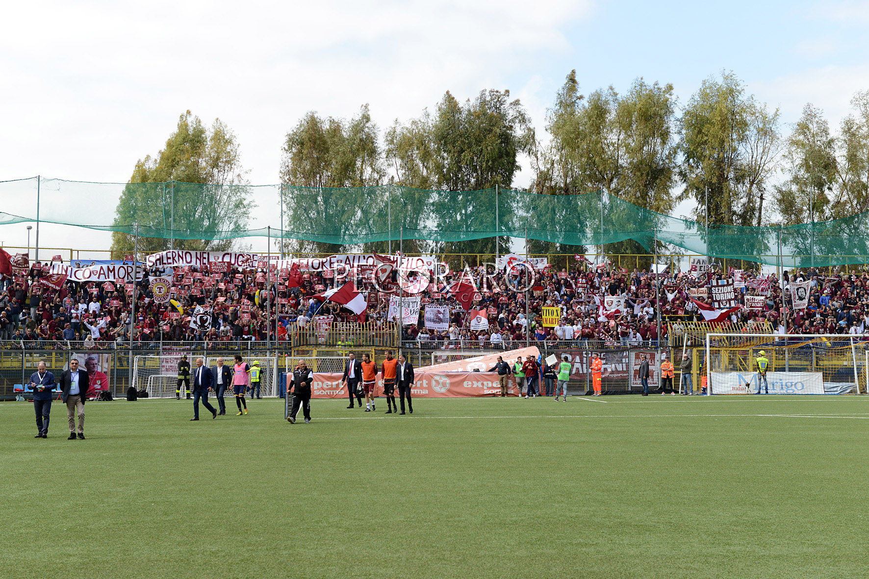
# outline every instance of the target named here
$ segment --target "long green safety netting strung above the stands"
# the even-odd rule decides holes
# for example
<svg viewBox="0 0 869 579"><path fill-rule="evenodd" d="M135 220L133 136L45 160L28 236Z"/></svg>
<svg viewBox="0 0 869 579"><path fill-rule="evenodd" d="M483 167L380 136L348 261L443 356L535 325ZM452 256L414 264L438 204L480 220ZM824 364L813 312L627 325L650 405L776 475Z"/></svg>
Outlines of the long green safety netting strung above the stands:
<svg viewBox="0 0 869 579"><path fill-rule="evenodd" d="M38 197L38 203L37 203ZM337 244L514 236L572 245L633 239L705 256L807 267L866 263L866 213L786 227L711 226L661 215L595 192L548 196L516 190L435 191L394 185L0 182L0 225L57 223L175 239L272 236ZM780 257L779 257L780 255Z"/></svg>

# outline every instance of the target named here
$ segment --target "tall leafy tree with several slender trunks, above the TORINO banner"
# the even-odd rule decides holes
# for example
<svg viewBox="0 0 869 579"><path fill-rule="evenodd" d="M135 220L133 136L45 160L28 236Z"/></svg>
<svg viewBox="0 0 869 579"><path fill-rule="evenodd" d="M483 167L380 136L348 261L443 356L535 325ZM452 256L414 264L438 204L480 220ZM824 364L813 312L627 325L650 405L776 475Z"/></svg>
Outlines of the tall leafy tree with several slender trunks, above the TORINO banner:
<svg viewBox="0 0 869 579"><path fill-rule="evenodd" d="M679 120L680 200L697 201L697 221L705 222L708 198L710 224L759 223L779 152L778 118L778 110L746 96L733 72L703 81Z"/></svg>

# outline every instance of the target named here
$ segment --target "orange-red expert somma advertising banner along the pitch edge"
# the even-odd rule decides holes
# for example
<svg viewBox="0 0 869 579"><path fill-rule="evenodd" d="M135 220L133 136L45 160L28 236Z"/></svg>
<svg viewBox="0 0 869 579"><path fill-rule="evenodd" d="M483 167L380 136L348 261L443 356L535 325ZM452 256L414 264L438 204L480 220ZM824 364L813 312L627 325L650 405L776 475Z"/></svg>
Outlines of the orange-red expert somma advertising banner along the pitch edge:
<svg viewBox="0 0 869 579"><path fill-rule="evenodd" d="M312 398L346 398L347 386L342 385L341 372L315 372L311 385ZM501 396L497 372L415 372L410 395L420 398L460 398L469 396ZM288 375L288 383L292 383ZM513 376L508 378L508 396L519 396ZM383 396L383 380L375 384L375 396ZM397 396L397 392L396 392Z"/></svg>

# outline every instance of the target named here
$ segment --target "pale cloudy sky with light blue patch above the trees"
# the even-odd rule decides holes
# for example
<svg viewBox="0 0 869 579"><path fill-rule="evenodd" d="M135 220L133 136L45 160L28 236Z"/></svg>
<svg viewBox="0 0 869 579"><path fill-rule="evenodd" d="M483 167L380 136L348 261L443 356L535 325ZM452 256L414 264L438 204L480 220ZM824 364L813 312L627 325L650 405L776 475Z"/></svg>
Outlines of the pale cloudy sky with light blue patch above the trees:
<svg viewBox="0 0 869 579"><path fill-rule="evenodd" d="M45 2L12 3L3 17L0 180L123 183L188 109L235 130L260 184L277 183L282 138L308 110L352 116L369 103L385 128L445 90L509 89L542 130L571 69L584 92L645 77L673 83L681 103L726 69L786 123L811 102L835 127L869 89L866 0ZM49 199L56 214L110 221L100 195ZM32 215L31 197L2 188L0 210ZM43 247L110 243L41 230ZM0 227L0 242L26 244L24 226Z"/></svg>

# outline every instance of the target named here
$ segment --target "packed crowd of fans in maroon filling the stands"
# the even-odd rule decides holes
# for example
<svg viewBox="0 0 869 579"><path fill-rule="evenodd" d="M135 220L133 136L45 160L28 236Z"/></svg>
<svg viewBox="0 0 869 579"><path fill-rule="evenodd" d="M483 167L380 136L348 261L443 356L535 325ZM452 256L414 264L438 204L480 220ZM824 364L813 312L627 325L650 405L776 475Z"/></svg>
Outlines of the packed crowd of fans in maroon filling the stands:
<svg viewBox="0 0 869 579"><path fill-rule="evenodd" d="M376 283L375 276L356 277L356 286L368 298L367 328L386 327L390 287ZM153 343L202 342L239 343L257 340L286 341L312 329L315 316L334 316L334 323L354 323L357 316L340 304L312 299L315 294L340 285L334 272L302 272L298 287L289 287L287 270L271 272L267 288L264 269L230 269L220 273L195 267L175 270L145 270L135 284L136 319L130 324L132 290L123 283L75 283L67 280L59 290L40 283L48 268L35 263L15 276L0 276L0 340L7 345L36 343L63 347L63 342L81 341L85 347L110 347L111 343L147 348ZM158 303L149 287L150 276L171 276L171 301ZM604 347L655 345L667 338L671 324L702 322L698 306L691 299L692 288L710 280L727 279L732 272L716 269L697 276L680 270L659 274L660 297L656 298L653 275L647 270L620 270L610 264L595 268L586 263L573 270L546 268L533 282L527 273L484 272L479 268L456 271L428 284L421 296L417 323L404 328L403 345L426 348L512 348L527 342L594 342ZM736 289L736 302L746 296L764 295L760 309L734 311L728 323L746 324L746 330L779 334L862 334L869 323L869 293L866 272L792 270L781 279L768 278L768 289L750 287L760 279L758 272L746 271L746 287ZM450 291L459 280L473 283L473 305L488 313L488 329L470 329L467 311ZM794 310L787 289L792 281L811 283L808 306ZM388 287L384 287L384 285ZM516 291L524 289L527 291ZM527 302L526 302L527 296ZM594 296L623 296L625 309L604 311ZM448 329L435 331L423 323L428 304L448 304ZM467 305L467 304L466 304ZM191 327L196 306L209 310L210 328ZM554 327L543 327L541 309L561 309ZM660 336L658 314L660 308ZM271 318L267 316L270 313Z"/></svg>

